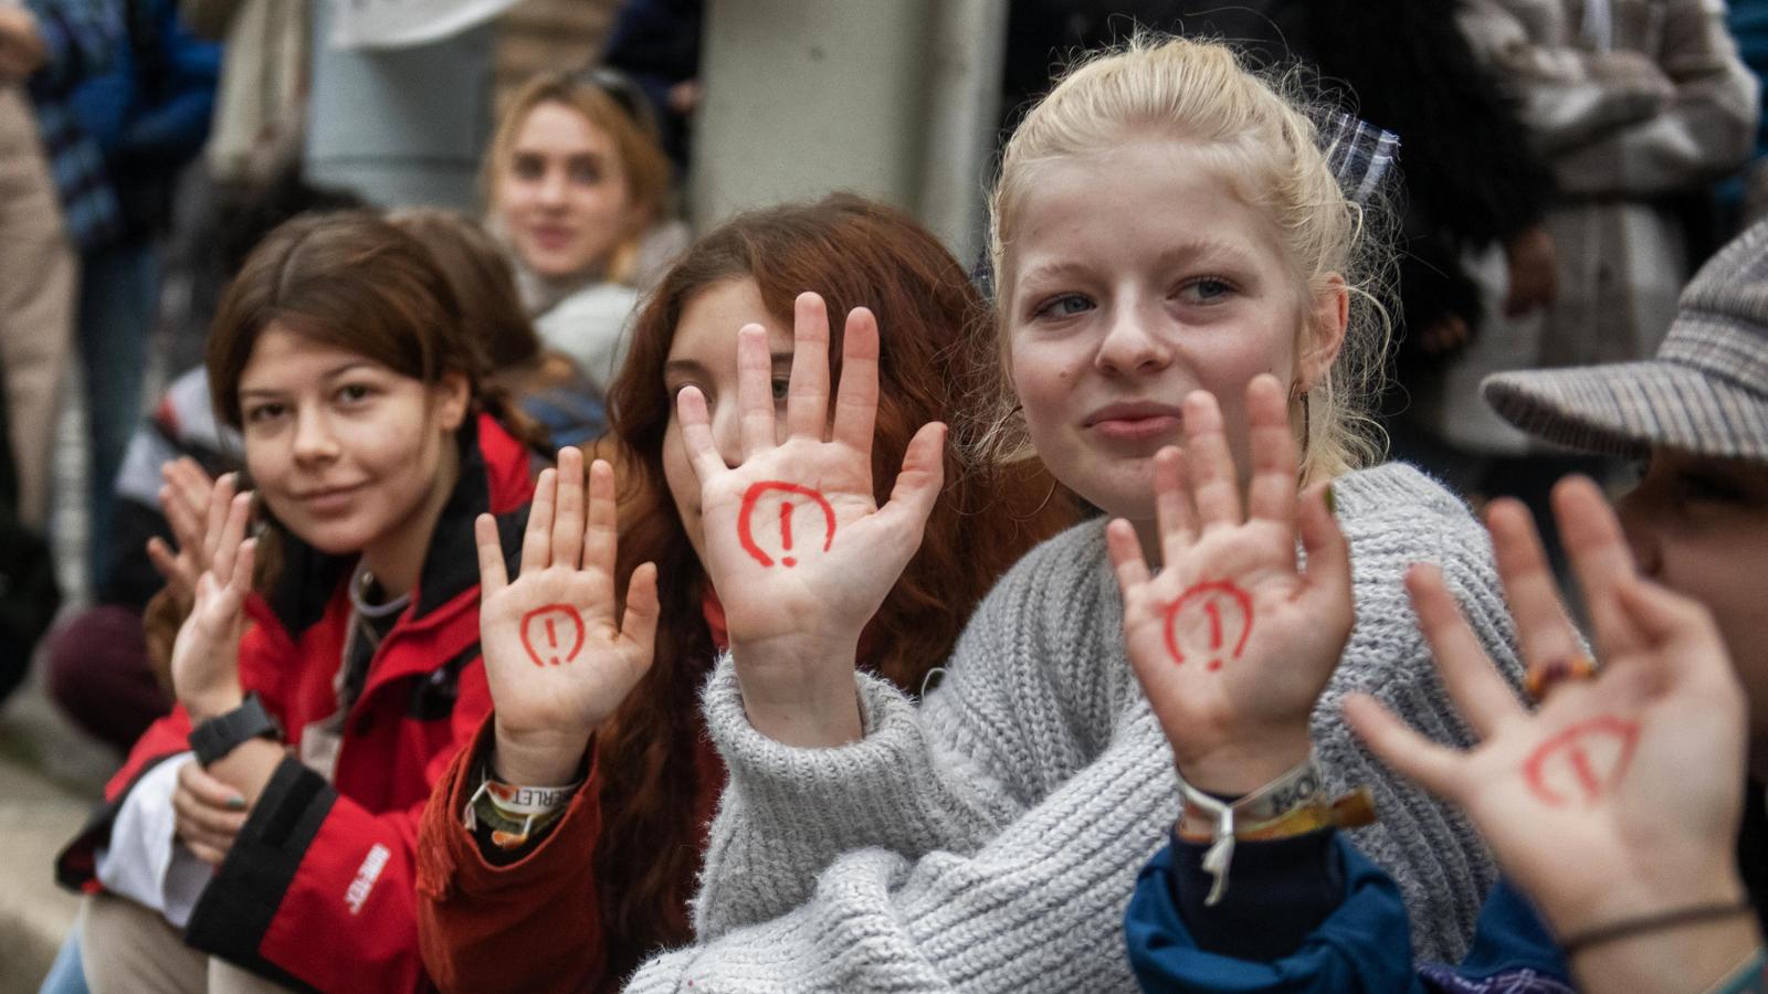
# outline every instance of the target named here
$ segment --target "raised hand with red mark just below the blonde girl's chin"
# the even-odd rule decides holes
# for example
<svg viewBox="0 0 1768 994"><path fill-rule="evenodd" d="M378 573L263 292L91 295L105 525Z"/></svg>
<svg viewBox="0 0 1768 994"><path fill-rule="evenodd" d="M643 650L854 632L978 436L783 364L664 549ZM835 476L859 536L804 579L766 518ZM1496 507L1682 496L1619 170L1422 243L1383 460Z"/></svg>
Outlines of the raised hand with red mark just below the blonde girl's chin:
<svg viewBox="0 0 1768 994"><path fill-rule="evenodd" d="M1246 386L1252 476L1241 483L1216 400L1185 400L1185 451L1155 456L1162 538L1149 571L1130 522L1109 525L1130 663L1186 782L1255 791L1308 757L1308 716L1351 633L1351 559L1324 486L1296 495L1284 389ZM1296 570L1296 531L1307 571Z"/></svg>

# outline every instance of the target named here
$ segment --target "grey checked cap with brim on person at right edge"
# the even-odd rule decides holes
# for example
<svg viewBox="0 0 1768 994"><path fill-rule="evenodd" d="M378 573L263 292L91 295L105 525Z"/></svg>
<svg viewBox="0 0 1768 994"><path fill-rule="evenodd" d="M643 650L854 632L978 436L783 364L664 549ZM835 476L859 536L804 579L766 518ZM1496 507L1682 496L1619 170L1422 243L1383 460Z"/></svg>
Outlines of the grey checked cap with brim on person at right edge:
<svg viewBox="0 0 1768 994"><path fill-rule="evenodd" d="M1496 373L1480 389L1517 428L1574 449L1768 462L1768 221L1701 267L1655 359Z"/></svg>

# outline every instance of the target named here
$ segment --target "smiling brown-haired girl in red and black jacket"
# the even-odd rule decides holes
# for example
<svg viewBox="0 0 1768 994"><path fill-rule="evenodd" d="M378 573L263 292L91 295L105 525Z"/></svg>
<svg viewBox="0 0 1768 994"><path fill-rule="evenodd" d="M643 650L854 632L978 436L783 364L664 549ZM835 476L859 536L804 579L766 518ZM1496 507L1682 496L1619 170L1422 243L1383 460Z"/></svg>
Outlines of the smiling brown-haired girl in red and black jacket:
<svg viewBox="0 0 1768 994"><path fill-rule="evenodd" d="M417 817L490 709L472 522L520 534L532 495L460 310L368 214L290 221L228 288L209 380L263 525L225 478L179 706L62 856L94 990L426 983Z"/></svg>

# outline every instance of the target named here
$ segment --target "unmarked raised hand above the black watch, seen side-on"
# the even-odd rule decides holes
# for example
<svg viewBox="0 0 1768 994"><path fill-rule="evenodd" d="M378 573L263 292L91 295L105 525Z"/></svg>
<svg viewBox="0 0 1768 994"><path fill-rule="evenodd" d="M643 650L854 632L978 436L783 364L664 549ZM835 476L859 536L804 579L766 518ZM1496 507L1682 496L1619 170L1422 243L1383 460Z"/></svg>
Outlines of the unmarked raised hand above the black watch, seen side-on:
<svg viewBox="0 0 1768 994"><path fill-rule="evenodd" d="M217 488L212 501L225 499L226 490ZM258 545L246 538L249 513L251 493L233 495L225 515L210 513L210 522L219 522L207 536L214 552L209 570L196 580L191 616L171 646L171 688L193 725L244 700L239 638L246 628L246 594Z"/></svg>

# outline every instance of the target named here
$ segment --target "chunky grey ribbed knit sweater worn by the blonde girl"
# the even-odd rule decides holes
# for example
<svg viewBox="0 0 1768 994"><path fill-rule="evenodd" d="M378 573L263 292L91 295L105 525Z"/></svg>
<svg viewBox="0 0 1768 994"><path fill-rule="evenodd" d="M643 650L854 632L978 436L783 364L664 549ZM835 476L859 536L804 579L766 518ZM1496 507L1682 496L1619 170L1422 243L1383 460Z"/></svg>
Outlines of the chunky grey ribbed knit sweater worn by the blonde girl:
<svg viewBox="0 0 1768 994"><path fill-rule="evenodd" d="M1510 616L1483 529L1436 483L1390 463L1335 495L1356 628L1314 741L1335 789L1376 794L1381 821L1353 838L1400 881L1420 955L1453 960L1490 858L1464 819L1365 753L1338 706L1368 692L1436 739L1467 739L1407 605L1409 564L1443 564L1517 681ZM1179 805L1124 656L1103 524L1025 555L919 706L856 679L865 738L792 748L750 727L720 661L705 713L730 782L693 906L700 944L652 959L628 990L1135 990L1123 914Z"/></svg>

